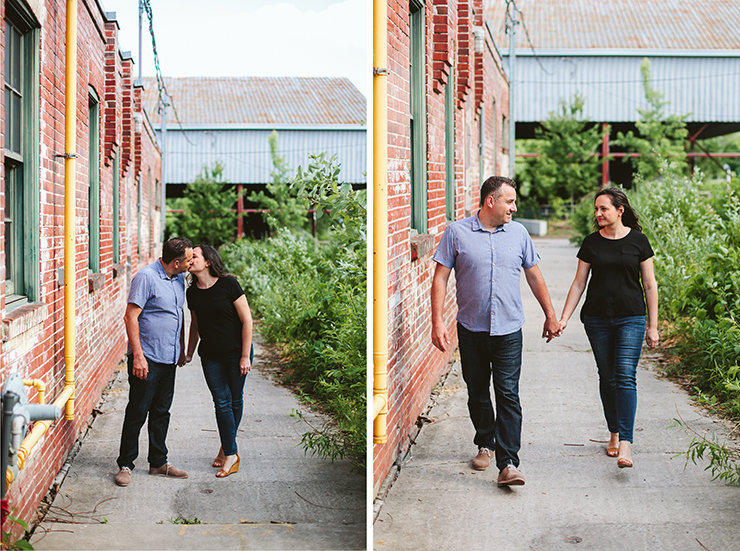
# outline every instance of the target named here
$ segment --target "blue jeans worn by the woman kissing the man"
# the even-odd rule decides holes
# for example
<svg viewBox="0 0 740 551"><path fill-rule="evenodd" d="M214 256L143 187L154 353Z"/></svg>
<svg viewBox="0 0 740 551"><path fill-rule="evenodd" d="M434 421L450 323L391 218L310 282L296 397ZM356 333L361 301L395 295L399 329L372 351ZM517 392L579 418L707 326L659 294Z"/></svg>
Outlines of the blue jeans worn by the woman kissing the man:
<svg viewBox="0 0 740 551"><path fill-rule="evenodd" d="M203 364L203 375L206 384L213 396L213 405L216 409L216 425L221 437L221 447L225 455L234 455L236 447L236 431L242 420L244 409L244 382L246 375L239 369L241 352L223 358L200 357ZM249 363L254 358L254 345L249 352Z"/></svg>

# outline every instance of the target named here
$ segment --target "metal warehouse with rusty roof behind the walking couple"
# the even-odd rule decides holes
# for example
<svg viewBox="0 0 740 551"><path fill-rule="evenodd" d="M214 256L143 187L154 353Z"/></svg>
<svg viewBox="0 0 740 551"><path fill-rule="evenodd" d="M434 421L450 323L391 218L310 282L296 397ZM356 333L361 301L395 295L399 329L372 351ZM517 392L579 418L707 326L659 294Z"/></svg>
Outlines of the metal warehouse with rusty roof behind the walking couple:
<svg viewBox="0 0 740 551"><path fill-rule="evenodd" d="M486 15L511 76L508 4L487 0ZM608 123L612 138L634 129L638 109L648 107L640 74L645 57L652 86L669 102L666 113L685 115L692 143L740 131L737 2L518 0L516 6L517 138L534 137L538 123L576 93L585 99L584 116Z"/></svg>

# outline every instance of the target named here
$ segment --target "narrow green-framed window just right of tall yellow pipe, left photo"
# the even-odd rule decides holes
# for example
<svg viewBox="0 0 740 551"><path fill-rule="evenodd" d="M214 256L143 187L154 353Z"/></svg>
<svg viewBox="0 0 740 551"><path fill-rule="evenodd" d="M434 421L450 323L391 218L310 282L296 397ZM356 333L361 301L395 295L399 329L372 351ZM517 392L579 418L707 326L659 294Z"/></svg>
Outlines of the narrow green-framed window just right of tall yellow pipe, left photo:
<svg viewBox="0 0 740 551"><path fill-rule="evenodd" d="M88 268L100 271L100 100L92 88L88 96Z"/></svg>

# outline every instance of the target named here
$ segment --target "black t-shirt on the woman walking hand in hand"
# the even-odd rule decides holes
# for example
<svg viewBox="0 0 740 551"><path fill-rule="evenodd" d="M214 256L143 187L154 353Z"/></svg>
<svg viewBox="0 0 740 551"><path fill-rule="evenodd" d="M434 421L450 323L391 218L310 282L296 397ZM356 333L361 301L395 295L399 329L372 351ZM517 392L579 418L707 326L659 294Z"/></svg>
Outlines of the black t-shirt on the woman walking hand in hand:
<svg viewBox="0 0 740 551"><path fill-rule="evenodd" d="M644 233L630 230L622 239L592 233L577 256L591 265L581 318L645 315L640 263L653 256L653 249Z"/></svg>

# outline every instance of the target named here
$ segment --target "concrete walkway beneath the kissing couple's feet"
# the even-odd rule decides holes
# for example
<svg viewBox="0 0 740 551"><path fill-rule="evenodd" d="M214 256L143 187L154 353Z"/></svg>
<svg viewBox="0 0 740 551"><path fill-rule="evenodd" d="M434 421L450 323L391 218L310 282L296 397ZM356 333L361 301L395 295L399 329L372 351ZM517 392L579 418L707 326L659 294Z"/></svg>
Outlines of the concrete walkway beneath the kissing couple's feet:
<svg viewBox="0 0 740 551"><path fill-rule="evenodd" d="M46 520L31 538L34 548L365 549L365 473L350 472L344 461L332 464L304 455L299 442L307 427L290 417L299 404L273 382L264 356L257 343L237 439L241 467L225 479L217 479L211 467L220 442L196 355L178 370L167 438L169 460L189 478L148 474L145 426L131 484L116 486L128 399L127 374L119 373ZM172 522L196 517L201 524Z"/></svg>

